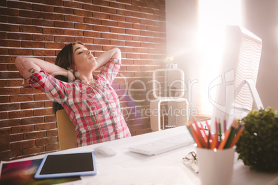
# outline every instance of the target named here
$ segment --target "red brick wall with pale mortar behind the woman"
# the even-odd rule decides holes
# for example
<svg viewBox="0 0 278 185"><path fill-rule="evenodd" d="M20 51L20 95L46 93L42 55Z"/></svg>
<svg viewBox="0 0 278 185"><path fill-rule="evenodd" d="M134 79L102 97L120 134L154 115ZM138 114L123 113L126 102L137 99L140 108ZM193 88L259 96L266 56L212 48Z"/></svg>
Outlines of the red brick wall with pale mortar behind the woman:
<svg viewBox="0 0 278 185"><path fill-rule="evenodd" d="M14 62L17 56L53 62L73 41L85 43L96 57L113 47L122 50L113 87L131 134L151 131L149 116L138 111L149 108L148 81L165 58L165 0L1 0L0 39L0 160L59 150L52 101L22 88ZM141 83L131 86L135 80L146 91Z"/></svg>

